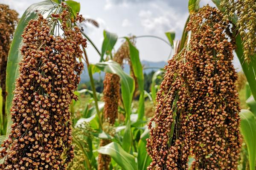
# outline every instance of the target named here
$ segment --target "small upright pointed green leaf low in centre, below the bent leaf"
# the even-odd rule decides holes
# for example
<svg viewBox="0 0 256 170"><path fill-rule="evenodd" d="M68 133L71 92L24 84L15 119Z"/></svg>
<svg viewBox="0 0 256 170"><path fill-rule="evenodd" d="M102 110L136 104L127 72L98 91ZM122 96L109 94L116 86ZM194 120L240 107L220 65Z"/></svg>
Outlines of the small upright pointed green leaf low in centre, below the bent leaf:
<svg viewBox="0 0 256 170"><path fill-rule="evenodd" d="M132 143L133 143L130 120L128 120L128 122L126 123L126 127L125 127L125 131L124 131L123 136L124 137L123 137L123 141L122 141L122 148L126 152L130 153L131 146L132 146Z"/></svg>

